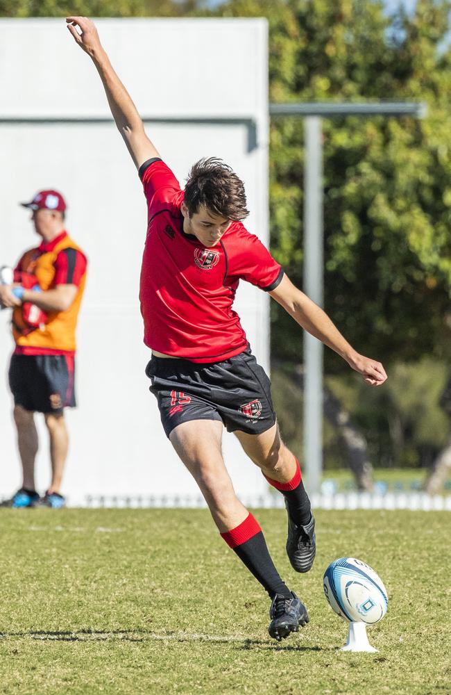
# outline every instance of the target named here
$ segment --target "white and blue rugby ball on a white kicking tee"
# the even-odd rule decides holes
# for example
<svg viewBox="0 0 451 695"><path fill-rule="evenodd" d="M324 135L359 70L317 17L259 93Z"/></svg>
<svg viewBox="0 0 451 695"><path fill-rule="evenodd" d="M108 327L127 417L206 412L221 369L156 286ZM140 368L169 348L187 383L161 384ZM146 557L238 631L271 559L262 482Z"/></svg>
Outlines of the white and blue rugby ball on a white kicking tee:
<svg viewBox="0 0 451 695"><path fill-rule="evenodd" d="M339 557L323 577L325 598L339 616L350 622L373 625L382 620L389 599L381 578L355 557Z"/></svg>

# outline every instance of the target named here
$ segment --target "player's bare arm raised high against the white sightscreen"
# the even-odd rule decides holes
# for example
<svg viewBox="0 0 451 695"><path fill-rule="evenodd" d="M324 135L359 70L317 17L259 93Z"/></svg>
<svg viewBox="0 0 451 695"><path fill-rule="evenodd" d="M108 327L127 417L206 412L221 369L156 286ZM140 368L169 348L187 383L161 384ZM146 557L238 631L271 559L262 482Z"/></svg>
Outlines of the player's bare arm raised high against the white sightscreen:
<svg viewBox="0 0 451 695"><path fill-rule="evenodd" d="M135 166L139 169L145 161L158 157L159 154L146 136L135 104L113 70L110 59L100 42L96 25L87 17L67 17L66 22L76 43L92 58L99 72L117 129L125 140Z"/></svg>

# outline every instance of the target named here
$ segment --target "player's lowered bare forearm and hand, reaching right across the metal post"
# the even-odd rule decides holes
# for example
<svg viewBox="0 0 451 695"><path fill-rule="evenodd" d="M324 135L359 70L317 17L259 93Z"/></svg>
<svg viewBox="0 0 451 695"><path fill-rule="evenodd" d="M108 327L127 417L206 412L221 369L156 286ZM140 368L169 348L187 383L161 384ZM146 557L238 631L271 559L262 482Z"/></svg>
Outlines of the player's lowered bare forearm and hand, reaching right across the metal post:
<svg viewBox="0 0 451 695"><path fill-rule="evenodd" d="M343 357L352 369L364 377L367 384L380 386L384 383L386 373L382 364L356 352L325 311L294 286L287 275L269 294L303 329Z"/></svg>

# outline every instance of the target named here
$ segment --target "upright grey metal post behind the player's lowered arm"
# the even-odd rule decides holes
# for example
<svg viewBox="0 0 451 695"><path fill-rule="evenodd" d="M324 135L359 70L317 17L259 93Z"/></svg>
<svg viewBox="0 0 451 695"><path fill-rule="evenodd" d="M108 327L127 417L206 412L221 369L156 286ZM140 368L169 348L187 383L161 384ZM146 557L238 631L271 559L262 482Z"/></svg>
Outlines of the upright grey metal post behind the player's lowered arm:
<svg viewBox="0 0 451 695"><path fill-rule="evenodd" d="M305 118L304 291L323 306L323 142L321 118ZM323 467L323 344L304 332L304 467L310 493Z"/></svg>

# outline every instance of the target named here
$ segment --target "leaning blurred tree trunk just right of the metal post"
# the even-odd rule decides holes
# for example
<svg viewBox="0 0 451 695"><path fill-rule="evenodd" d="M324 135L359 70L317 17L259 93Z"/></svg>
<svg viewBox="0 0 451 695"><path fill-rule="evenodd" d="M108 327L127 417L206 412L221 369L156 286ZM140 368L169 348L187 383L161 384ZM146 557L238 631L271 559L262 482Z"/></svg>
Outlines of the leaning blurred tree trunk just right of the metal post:
<svg viewBox="0 0 451 695"><path fill-rule="evenodd" d="M296 382L304 390L303 367L296 367L295 374ZM348 411L328 389L323 391L323 408L327 420L337 430L339 439L346 448L349 467L354 473L357 489L372 492L374 489L373 466L368 460L368 446L364 434L355 423L352 423Z"/></svg>

